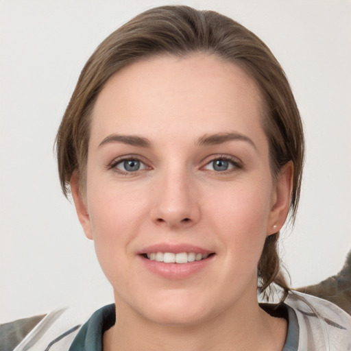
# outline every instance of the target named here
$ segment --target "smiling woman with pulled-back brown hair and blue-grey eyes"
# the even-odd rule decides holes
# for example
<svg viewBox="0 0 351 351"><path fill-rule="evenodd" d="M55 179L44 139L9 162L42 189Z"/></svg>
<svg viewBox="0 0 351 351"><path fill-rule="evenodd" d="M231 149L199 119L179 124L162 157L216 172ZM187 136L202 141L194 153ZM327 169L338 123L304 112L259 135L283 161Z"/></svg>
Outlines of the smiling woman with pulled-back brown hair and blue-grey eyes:
<svg viewBox="0 0 351 351"><path fill-rule="evenodd" d="M83 326L48 315L19 350L38 335L47 350L347 350L350 317L280 271L304 137L284 72L245 27L184 6L136 16L86 63L57 149L116 307ZM258 304L272 286L282 302Z"/></svg>

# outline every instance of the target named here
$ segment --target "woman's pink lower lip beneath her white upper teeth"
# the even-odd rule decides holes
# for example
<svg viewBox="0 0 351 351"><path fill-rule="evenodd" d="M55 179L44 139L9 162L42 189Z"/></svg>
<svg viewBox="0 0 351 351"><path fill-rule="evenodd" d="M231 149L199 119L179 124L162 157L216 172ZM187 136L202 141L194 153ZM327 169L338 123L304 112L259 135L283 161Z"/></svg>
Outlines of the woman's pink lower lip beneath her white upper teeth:
<svg viewBox="0 0 351 351"><path fill-rule="evenodd" d="M194 261L188 263L164 263L149 260L143 256L139 256L143 264L153 274L161 276L162 278L178 280L193 276L197 272L204 269L210 262L213 261L215 255L211 255L201 261Z"/></svg>

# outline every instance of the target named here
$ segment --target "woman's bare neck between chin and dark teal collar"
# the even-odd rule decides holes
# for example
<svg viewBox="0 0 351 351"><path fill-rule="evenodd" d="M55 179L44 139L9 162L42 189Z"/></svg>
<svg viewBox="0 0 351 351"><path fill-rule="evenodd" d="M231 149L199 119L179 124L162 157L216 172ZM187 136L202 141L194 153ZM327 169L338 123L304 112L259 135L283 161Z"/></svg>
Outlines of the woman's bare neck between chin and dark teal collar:
<svg viewBox="0 0 351 351"><path fill-rule="evenodd" d="M117 322L104 334L104 351L280 351L287 333L285 319L271 317L257 301L252 308L232 306L221 315L181 326L156 324L120 302L117 306Z"/></svg>

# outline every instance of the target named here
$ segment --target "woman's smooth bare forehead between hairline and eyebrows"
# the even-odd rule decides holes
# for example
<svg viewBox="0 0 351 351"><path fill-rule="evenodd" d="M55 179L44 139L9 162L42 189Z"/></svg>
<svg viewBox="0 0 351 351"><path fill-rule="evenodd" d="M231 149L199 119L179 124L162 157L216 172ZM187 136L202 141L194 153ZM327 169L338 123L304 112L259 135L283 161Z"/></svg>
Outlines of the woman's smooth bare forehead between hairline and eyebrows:
<svg viewBox="0 0 351 351"><path fill-rule="evenodd" d="M237 64L215 55L141 60L104 86L93 109L91 138L111 132L156 137L162 129L184 134L184 128L193 134L261 128L256 84Z"/></svg>

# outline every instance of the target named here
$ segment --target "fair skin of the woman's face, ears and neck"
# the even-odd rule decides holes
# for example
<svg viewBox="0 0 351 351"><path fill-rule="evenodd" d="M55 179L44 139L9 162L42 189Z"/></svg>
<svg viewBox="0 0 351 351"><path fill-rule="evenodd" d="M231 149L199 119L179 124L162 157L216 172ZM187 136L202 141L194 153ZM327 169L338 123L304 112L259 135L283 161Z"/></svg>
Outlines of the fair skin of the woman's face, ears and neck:
<svg viewBox="0 0 351 351"><path fill-rule="evenodd" d="M114 289L117 323L105 351L282 350L287 323L258 306L256 267L265 238L287 217L293 167L272 180L261 106L238 66L204 54L136 62L99 94L86 189L80 196L74 174L71 190ZM241 137L201 143L228 132ZM141 169L126 172L125 157ZM218 171L213 161L223 158L228 169ZM167 278L139 255L159 243L213 255L195 274Z"/></svg>

